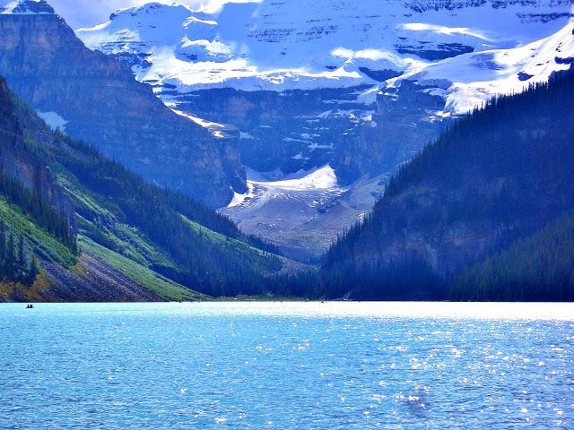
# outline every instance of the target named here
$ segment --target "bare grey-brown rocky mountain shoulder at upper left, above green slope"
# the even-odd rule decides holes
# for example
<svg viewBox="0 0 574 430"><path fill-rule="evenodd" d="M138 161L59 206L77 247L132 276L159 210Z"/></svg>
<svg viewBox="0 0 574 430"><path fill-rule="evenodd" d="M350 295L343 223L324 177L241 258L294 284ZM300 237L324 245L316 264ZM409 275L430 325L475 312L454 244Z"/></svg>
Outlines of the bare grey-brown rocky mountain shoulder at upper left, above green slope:
<svg viewBox="0 0 574 430"><path fill-rule="evenodd" d="M237 141L215 139L92 52L44 0L0 13L0 74L39 115L148 180L212 205L245 190Z"/></svg>

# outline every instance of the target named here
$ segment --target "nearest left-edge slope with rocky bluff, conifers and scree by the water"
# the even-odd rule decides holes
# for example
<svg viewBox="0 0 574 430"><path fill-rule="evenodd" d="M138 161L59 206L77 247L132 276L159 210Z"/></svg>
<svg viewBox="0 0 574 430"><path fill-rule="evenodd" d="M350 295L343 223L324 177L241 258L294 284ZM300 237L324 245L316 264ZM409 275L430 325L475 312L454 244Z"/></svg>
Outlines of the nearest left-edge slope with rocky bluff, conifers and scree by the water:
<svg viewBox="0 0 574 430"><path fill-rule="evenodd" d="M0 301L160 299L91 255L76 255L74 203L25 142L4 79L0 152Z"/></svg>

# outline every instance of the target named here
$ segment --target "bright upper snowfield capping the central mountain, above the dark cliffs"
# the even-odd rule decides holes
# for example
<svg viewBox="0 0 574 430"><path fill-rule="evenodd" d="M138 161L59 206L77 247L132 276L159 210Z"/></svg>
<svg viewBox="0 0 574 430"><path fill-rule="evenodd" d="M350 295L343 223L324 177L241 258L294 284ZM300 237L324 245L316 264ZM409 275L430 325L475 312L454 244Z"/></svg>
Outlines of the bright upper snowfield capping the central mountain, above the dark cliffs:
<svg viewBox="0 0 574 430"><path fill-rule="evenodd" d="M421 62L523 46L560 30L573 4L265 0L194 13L151 3L77 34L88 47L131 57L138 80L180 91L305 90L372 83L369 69L399 73Z"/></svg>

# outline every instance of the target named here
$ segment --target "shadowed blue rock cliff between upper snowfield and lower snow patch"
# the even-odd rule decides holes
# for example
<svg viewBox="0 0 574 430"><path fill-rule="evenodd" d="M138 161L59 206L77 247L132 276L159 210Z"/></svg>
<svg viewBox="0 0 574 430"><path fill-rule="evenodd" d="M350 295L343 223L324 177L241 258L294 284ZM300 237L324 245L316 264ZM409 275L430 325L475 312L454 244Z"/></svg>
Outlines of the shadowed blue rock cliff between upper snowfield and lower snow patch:
<svg viewBox="0 0 574 430"><path fill-rule="evenodd" d="M248 168L290 174L332 162L349 130L374 125L374 100L356 99L367 88L199 90L178 97L178 108L238 129L241 160Z"/></svg>

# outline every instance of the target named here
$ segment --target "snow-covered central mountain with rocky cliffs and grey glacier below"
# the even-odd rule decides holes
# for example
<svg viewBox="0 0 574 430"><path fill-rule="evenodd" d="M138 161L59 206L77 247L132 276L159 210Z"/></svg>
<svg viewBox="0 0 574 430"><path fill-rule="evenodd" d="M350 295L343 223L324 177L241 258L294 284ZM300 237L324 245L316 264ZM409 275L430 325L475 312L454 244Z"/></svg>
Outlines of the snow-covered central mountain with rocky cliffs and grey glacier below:
<svg viewBox="0 0 574 430"><path fill-rule="evenodd" d="M264 0L196 13L151 3L77 34L130 66L170 107L212 132L218 125L238 135L252 177L270 183L333 168L326 211L317 202L328 190L245 193L224 210L246 231L297 253L313 244L304 254L317 257L336 231L370 211L388 175L436 139L450 116L567 67L554 57L574 56L564 27L573 5ZM563 52L548 37L565 41ZM282 226L277 218L299 221Z"/></svg>

